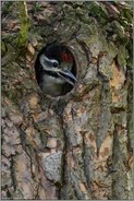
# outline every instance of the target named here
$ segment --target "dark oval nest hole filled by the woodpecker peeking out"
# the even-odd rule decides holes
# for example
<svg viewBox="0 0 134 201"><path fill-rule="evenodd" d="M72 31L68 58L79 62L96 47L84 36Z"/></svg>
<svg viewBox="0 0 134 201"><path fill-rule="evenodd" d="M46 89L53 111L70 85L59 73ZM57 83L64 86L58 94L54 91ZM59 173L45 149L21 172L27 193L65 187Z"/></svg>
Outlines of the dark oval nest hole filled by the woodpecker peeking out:
<svg viewBox="0 0 134 201"><path fill-rule="evenodd" d="M74 58L63 45L48 45L36 59L35 72L38 85L45 94L60 96L75 84Z"/></svg>

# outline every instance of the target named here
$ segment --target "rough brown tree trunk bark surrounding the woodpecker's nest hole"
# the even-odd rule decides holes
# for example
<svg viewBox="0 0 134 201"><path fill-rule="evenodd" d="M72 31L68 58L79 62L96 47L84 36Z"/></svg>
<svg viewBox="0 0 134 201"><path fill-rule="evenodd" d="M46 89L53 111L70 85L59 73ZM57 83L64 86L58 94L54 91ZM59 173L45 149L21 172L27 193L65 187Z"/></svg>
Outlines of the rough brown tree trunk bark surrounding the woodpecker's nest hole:
<svg viewBox="0 0 134 201"><path fill-rule="evenodd" d="M126 3L2 4L2 199L133 199L131 28ZM34 71L52 42L77 74L57 98Z"/></svg>

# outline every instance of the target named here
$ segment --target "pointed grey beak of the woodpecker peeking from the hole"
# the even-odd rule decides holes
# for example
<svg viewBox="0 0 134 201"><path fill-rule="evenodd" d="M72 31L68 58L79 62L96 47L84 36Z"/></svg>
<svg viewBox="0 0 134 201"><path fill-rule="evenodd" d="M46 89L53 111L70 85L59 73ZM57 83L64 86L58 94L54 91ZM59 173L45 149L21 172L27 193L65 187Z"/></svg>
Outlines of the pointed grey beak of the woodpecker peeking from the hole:
<svg viewBox="0 0 134 201"><path fill-rule="evenodd" d="M65 71L59 71L59 76L61 76L63 80L65 80L68 83L70 83L72 86L74 86L76 82L76 78L73 75L73 73L69 70Z"/></svg>

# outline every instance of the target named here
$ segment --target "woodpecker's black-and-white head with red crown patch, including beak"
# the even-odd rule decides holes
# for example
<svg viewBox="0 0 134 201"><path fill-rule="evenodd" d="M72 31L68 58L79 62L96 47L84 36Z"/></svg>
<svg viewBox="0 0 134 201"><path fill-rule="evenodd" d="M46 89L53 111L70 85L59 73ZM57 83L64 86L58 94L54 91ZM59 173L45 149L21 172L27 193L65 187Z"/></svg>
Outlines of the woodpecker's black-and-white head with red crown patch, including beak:
<svg viewBox="0 0 134 201"><path fill-rule="evenodd" d="M69 83L74 86L75 75L72 73L74 58L65 47L53 46L46 49L39 56L39 62L44 72L57 78L61 83Z"/></svg>

